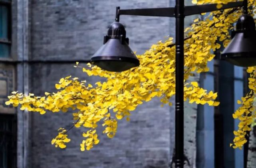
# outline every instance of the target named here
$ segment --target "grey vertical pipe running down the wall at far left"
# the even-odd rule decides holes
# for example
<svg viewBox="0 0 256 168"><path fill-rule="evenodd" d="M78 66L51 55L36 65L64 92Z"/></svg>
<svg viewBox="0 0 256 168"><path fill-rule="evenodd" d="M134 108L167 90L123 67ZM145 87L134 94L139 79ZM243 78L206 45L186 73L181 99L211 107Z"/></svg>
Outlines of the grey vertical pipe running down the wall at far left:
<svg viewBox="0 0 256 168"><path fill-rule="evenodd" d="M17 25L16 32L17 39L16 50L18 61L28 60L29 58L29 0L16 1L16 17ZM17 89L25 94L28 94L28 63L17 65ZM17 168L30 168L30 114L28 111L21 111L17 109Z"/></svg>

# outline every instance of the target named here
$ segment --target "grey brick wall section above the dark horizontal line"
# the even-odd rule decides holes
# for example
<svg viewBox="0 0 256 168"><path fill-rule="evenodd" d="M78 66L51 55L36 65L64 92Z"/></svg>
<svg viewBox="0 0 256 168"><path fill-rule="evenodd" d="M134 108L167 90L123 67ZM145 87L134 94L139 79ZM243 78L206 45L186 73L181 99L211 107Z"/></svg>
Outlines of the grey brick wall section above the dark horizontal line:
<svg viewBox="0 0 256 168"><path fill-rule="evenodd" d="M115 7L157 8L169 0L32 0L32 59L89 59L114 22ZM121 16L134 51L169 35L169 18Z"/></svg>

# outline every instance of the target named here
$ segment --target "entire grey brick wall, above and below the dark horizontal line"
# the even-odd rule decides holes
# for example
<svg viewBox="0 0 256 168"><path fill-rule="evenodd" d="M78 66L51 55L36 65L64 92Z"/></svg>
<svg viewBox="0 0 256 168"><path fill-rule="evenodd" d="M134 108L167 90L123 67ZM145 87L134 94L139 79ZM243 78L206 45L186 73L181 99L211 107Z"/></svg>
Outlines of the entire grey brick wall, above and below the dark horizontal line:
<svg viewBox="0 0 256 168"><path fill-rule="evenodd" d="M174 6L174 0L31 0L27 55L30 59L89 59L102 45L103 35L114 21L116 6L123 9L167 7ZM174 19L170 18L121 16L120 22L127 28L131 48L139 54L163 37L175 34ZM191 18L187 19L187 24L190 22ZM73 68L73 64L34 64L29 67L30 92L39 96L45 91L54 92L55 83L68 75L90 83L103 80L87 77L81 69ZM195 107L189 110L192 116L188 116L189 120L194 121L195 111ZM109 139L99 133L101 142L90 151L81 152L83 128L70 131L71 142L64 150L50 144L58 128L72 125L71 111L46 115L32 113L29 118L30 147L27 148L30 155L24 159L31 168L167 168L174 147L174 118L173 107L160 107L159 100L154 99L138 107L130 122L119 121L115 138ZM194 126L193 121L185 123ZM98 132L102 132L100 126ZM185 147L186 154L192 153L189 160L193 160L195 134L191 131L185 134L193 141L193 144L185 143L189 146Z"/></svg>

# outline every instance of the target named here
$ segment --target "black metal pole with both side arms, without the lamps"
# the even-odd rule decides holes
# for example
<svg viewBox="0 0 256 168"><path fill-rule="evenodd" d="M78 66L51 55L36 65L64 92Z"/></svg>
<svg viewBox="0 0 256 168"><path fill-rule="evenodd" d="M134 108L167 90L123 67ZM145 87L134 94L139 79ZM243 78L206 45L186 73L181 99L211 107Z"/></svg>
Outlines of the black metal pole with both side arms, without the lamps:
<svg viewBox="0 0 256 168"><path fill-rule="evenodd" d="M166 16L176 19L176 72L175 72L175 168L184 167L184 18L185 16L224 10L228 8L242 7L248 0L243 2L230 2L222 8L217 4L205 4L199 6L184 6L184 0L176 0L175 8L149 8L149 9L116 9L116 22L120 15L136 16ZM247 7L244 7L245 13Z"/></svg>

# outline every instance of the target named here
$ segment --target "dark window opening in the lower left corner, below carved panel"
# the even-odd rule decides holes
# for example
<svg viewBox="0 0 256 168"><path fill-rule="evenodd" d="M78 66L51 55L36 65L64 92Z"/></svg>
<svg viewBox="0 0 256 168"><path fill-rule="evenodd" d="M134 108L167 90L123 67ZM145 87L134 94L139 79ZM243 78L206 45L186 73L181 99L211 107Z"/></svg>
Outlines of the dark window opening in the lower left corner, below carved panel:
<svg viewBox="0 0 256 168"><path fill-rule="evenodd" d="M16 168L16 115L0 114L0 168Z"/></svg>

